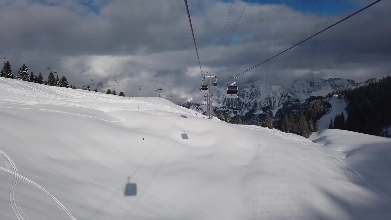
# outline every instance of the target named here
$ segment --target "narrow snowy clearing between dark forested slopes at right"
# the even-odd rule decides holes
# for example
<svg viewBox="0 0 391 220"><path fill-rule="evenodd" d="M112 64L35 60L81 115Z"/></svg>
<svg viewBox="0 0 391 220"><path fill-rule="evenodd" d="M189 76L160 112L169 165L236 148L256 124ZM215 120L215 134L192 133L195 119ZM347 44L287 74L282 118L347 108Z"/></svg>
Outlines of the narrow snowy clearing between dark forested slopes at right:
<svg viewBox="0 0 391 220"><path fill-rule="evenodd" d="M331 97L329 103L331 104L331 110L327 110L326 114L323 115L319 120L318 120L318 125L319 125L319 130L325 130L328 129L328 126L330 125L330 119L333 119L337 114L343 114L345 115L345 120L348 116L348 112L346 112L346 101L344 100L343 97L338 97L333 96Z"/></svg>

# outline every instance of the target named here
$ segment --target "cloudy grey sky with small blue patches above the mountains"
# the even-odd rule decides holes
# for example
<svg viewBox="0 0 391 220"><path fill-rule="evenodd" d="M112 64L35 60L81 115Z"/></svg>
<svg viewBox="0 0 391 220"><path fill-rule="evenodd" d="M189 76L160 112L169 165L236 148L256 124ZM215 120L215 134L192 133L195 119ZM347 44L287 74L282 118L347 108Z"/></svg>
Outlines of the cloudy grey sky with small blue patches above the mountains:
<svg viewBox="0 0 391 220"><path fill-rule="evenodd" d="M234 0L223 35L231 0L188 0L188 6L202 71L232 77L373 1ZM260 78L289 86L297 78L361 82L391 75L390 6L383 0L241 74L239 90ZM51 63L66 68L56 70L72 85L145 97L162 87L173 102L203 99L183 0L0 0L0 8L0 50L14 75L26 63L46 78ZM232 81L218 79L221 86Z"/></svg>

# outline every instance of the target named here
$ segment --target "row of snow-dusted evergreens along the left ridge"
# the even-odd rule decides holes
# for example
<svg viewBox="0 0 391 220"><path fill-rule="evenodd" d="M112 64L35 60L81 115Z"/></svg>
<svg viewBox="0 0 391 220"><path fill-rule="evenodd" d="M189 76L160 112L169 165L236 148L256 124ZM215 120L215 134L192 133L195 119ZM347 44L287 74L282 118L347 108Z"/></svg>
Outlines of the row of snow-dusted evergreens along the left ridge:
<svg viewBox="0 0 391 220"><path fill-rule="evenodd" d="M9 61L4 62L3 68L0 73L0 77L10 78L10 79L14 78L14 73L11 69L11 64L9 63ZM65 76L61 76L61 78L60 78L57 74L57 76L54 77L54 73L52 71L50 71L48 78L46 80L43 78L41 73L39 73L38 76L36 76L34 74L34 72L31 71L31 73L29 74L29 69L27 69L27 66L25 63L23 63L22 67L19 68L18 74L16 75L16 79L28 81L28 82L33 82L33 83L49 85L49 86L83 89L83 90L90 91L90 85L87 84L87 85L83 85L82 87L80 87L80 86L76 87L75 85L70 85L68 82L68 79L66 79ZM97 88L95 88L93 91L98 92ZM115 90L113 90L113 92L110 91L110 93L109 93L109 91L110 91L110 89L108 89L108 91L106 93L117 95ZM124 92L120 92L118 95L125 96Z"/></svg>

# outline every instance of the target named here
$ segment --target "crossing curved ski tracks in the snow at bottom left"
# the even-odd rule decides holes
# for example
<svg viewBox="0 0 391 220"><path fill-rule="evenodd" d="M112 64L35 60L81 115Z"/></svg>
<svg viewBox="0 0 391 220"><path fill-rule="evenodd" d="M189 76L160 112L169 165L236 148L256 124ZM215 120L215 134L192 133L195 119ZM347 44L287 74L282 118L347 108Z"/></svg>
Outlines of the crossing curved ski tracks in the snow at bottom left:
<svg viewBox="0 0 391 220"><path fill-rule="evenodd" d="M17 201L18 203L18 206L16 206L16 203L15 203L15 196L14 196L14 192L15 192L15 186L16 186L16 183L18 181L18 178L22 179L22 180L25 180L25 182L29 182L31 184L33 184L34 186L38 187L39 189L41 189L42 191L44 191L47 195L49 195L56 203L58 206L61 207L62 210L64 210L66 212L66 214L72 219L72 220L76 220L76 218L65 208L65 206L63 206L63 204L61 204L61 202L59 200L57 200L56 197L54 197L54 195L52 195L51 193L49 193L46 189L44 189L42 186L39 186L36 182L26 178L26 177L23 177L22 175L20 175L18 173L18 170L16 169L16 166L13 162L13 160L8 157L7 154L5 154L2 150L0 150L0 153L8 160L8 162L11 164L11 166L13 167L14 171L12 170L9 170L9 169L6 169L2 166L0 166L0 170L4 170L8 173L11 173L15 176L14 178L14 182L13 182L13 186L11 186L11 191L9 193L9 199L10 199L10 203L11 203L11 207L12 209L14 210L14 213L16 215L16 218L18 218L18 220L24 220L24 218L22 217L22 215L20 215L19 213L19 210L18 210L18 207L20 208L20 211L22 211L22 208L19 206L19 202ZM11 195L12 195L12 198L11 198ZM60 209L60 210L61 210ZM62 211L61 210L61 211ZM23 211L22 211L23 213ZM25 215L23 213L23 215ZM25 215L26 216L26 215ZM26 218L29 220L29 218L26 216Z"/></svg>

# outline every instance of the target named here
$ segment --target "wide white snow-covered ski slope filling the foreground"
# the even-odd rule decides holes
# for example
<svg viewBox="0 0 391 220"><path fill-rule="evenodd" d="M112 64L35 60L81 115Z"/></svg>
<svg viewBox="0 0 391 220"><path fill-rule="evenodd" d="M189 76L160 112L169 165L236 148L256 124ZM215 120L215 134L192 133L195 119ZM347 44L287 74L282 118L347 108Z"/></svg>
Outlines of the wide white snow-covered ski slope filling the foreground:
<svg viewBox="0 0 391 220"><path fill-rule="evenodd" d="M0 122L0 219L391 215L384 137L324 130L308 140L210 120L166 99L5 78ZM124 196L128 177L135 196Z"/></svg>

